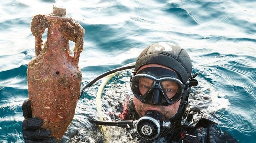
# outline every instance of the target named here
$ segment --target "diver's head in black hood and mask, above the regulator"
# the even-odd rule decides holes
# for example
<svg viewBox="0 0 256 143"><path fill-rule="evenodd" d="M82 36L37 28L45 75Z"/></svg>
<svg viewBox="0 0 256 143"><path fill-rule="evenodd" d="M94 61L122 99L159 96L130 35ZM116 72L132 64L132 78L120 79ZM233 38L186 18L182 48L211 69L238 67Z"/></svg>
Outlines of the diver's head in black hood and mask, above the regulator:
<svg viewBox="0 0 256 143"><path fill-rule="evenodd" d="M188 80L192 65L187 52L169 42L155 43L138 57L131 88L134 106L139 116L148 110L163 114L170 120L184 112L190 92Z"/></svg>

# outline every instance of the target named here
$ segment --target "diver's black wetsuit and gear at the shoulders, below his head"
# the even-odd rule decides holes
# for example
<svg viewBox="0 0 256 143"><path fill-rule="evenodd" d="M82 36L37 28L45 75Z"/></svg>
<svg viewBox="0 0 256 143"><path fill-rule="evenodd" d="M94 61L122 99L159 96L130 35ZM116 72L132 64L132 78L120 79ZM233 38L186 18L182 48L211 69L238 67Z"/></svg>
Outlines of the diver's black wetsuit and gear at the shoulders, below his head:
<svg viewBox="0 0 256 143"><path fill-rule="evenodd" d="M133 103L128 108L126 120L138 120L139 116L135 112ZM210 134L210 135L208 135ZM126 135L132 140L138 142L171 142L171 143L237 143L237 140L225 131L216 129L213 122L201 119L196 126L190 127L181 125L181 121L176 125L175 129L166 135L161 135L154 140L145 140L141 138L135 129L127 129Z"/></svg>

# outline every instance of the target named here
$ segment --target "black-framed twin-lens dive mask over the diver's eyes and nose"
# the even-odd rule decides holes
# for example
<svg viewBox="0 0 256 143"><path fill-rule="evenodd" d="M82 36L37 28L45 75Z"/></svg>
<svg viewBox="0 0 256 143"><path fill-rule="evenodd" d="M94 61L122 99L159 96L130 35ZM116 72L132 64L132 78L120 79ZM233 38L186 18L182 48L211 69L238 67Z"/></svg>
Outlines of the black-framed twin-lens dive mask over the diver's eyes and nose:
<svg viewBox="0 0 256 143"><path fill-rule="evenodd" d="M180 76L162 67L148 67L131 75L131 89L142 103L168 106L179 101L189 81L183 84Z"/></svg>

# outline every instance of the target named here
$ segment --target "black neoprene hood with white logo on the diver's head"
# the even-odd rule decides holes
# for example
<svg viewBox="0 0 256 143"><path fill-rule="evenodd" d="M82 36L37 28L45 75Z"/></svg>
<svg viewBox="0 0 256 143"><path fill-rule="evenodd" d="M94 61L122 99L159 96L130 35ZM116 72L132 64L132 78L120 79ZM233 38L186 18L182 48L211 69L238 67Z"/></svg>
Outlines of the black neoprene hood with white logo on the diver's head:
<svg viewBox="0 0 256 143"><path fill-rule="evenodd" d="M138 56L135 73L140 67L148 64L159 64L176 71L185 83L192 72L191 60L187 52L178 45L169 42L155 43L147 47Z"/></svg>

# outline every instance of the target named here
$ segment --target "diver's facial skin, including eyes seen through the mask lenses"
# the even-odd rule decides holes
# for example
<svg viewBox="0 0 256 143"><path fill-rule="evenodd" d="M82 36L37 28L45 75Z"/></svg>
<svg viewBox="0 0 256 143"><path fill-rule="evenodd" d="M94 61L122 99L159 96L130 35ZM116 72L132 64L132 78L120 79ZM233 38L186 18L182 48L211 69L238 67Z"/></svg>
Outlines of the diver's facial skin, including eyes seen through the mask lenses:
<svg viewBox="0 0 256 143"><path fill-rule="evenodd" d="M148 65L142 66L137 73L139 73L139 71L143 69L149 69L151 67L164 68L166 70L173 71L172 69L162 65L148 64ZM139 87L138 91L141 93L142 96L146 96L145 94L148 91L148 88L152 86L152 84L153 84L153 80L151 80L150 78L141 77L138 80L138 87ZM163 89L164 91L168 89L172 90L170 91L172 92L170 94L168 91L166 91L167 92L166 97L171 98L177 93L178 86L176 82L166 80L166 81L163 81L161 85L163 85L162 87L166 87L165 89ZM171 105L163 106L161 105L161 100L164 99L164 96L154 93L154 92L157 92L156 90L159 90L159 89L153 89L151 94L147 95L146 101L148 103L145 103L145 102L142 103L142 101L137 97L135 97L134 95L133 102L134 102L134 107L136 109L136 112L139 114L140 117L142 117L143 115L145 115L146 111L155 110L155 111L158 111L160 114L164 115L162 120L169 120L171 117L173 117L177 113L181 100L178 99L178 101L176 101Z"/></svg>

